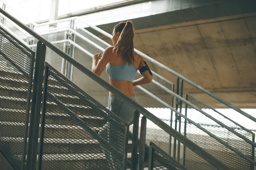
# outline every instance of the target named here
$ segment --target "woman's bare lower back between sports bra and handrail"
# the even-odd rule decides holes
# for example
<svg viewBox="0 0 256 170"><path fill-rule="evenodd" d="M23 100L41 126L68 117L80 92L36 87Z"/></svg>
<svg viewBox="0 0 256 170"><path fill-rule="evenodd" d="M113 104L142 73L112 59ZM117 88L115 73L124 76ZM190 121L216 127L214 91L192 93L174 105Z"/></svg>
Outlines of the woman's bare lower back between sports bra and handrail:
<svg viewBox="0 0 256 170"><path fill-rule="evenodd" d="M135 96L132 82L125 80L109 80L109 83L127 96ZM112 93L110 95L113 95Z"/></svg>

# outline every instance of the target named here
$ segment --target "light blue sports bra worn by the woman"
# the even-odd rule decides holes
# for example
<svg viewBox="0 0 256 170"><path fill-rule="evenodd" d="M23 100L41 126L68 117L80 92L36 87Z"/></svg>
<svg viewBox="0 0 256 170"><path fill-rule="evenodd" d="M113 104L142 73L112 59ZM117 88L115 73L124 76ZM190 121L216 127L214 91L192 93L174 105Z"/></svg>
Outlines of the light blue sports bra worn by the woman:
<svg viewBox="0 0 256 170"><path fill-rule="evenodd" d="M136 68L134 68L132 64L129 65L128 62L123 65L107 64L106 70L109 75L109 79L126 80L129 82L133 82L134 76L137 72Z"/></svg>

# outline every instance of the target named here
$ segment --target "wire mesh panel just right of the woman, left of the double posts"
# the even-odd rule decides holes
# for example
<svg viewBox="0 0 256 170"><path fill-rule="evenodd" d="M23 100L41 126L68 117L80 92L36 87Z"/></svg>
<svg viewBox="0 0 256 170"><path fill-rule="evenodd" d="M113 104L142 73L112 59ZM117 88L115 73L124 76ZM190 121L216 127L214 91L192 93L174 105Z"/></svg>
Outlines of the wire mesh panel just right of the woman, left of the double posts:
<svg viewBox="0 0 256 170"><path fill-rule="evenodd" d="M140 77L140 74L136 74L134 79L139 79ZM153 79L153 81L156 81L161 85L164 85L169 90L173 90L174 85L171 82L167 82L164 79L160 79L157 75L154 75ZM163 100L163 102L172 105L173 96L167 93L162 88L160 88L158 85L154 84L154 82L141 85L141 87L144 88L146 91L150 92L151 94L157 96L159 99ZM161 102L149 96L146 91L142 91L141 88L134 87L134 93L139 104L151 113L153 113L155 116L163 120L163 122L165 122L167 125L171 125L171 110L167 108L165 105L163 105ZM141 118L142 115L140 116L140 119ZM133 128L130 127L130 131L132 130ZM171 147L170 135L166 133L164 130L160 129L153 122L148 120L146 131L146 144L149 145L150 142L154 142L162 150L169 153L169 148Z"/></svg>

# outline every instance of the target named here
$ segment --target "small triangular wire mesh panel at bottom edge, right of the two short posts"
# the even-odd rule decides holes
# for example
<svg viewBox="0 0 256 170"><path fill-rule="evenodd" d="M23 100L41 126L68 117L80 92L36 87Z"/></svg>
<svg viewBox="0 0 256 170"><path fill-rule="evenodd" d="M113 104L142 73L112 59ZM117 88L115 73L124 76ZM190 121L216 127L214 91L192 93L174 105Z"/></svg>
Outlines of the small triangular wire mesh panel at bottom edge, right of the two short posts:
<svg viewBox="0 0 256 170"><path fill-rule="evenodd" d="M149 170L186 170L186 168L150 142Z"/></svg>

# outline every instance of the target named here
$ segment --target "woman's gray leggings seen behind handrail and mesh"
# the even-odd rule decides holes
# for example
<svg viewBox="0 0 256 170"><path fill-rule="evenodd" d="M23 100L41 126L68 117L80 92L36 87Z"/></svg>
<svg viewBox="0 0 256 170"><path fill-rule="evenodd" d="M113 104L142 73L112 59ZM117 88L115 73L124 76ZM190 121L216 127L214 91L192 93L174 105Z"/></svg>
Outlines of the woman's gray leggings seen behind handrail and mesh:
<svg viewBox="0 0 256 170"><path fill-rule="evenodd" d="M130 99L138 103L135 96L128 96ZM122 101L119 97L112 95L110 96L110 110L123 119L128 125L133 123L133 117L135 110ZM123 142L124 142L124 129L118 129L116 127L111 127L111 123L107 122L102 130L99 131L99 135L107 136L107 142L116 148L120 153L119 156L114 155L108 148L104 147L101 142L99 142L108 164L111 168L115 170L122 169L122 152L123 152Z"/></svg>

